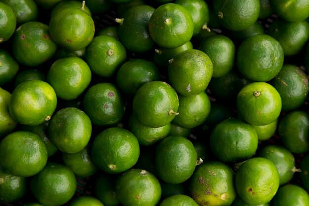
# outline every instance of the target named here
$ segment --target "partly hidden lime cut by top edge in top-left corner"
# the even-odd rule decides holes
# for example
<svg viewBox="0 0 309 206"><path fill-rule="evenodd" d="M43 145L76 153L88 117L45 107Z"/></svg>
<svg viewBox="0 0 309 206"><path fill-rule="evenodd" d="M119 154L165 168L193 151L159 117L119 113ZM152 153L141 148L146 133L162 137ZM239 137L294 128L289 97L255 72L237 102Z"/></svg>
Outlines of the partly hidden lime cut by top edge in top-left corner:
<svg viewBox="0 0 309 206"><path fill-rule="evenodd" d="M0 0L9 5L15 13L17 25L36 21L39 15L37 4L33 0Z"/></svg>

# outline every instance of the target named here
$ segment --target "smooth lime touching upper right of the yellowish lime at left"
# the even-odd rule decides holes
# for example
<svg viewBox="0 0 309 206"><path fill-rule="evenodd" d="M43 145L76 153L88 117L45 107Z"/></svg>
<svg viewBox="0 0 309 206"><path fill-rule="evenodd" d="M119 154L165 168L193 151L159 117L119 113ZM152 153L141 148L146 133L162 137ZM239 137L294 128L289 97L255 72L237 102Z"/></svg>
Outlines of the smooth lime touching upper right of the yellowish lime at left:
<svg viewBox="0 0 309 206"><path fill-rule="evenodd" d="M47 82L61 99L76 99L88 87L91 71L87 63L78 57L56 60L47 74Z"/></svg>

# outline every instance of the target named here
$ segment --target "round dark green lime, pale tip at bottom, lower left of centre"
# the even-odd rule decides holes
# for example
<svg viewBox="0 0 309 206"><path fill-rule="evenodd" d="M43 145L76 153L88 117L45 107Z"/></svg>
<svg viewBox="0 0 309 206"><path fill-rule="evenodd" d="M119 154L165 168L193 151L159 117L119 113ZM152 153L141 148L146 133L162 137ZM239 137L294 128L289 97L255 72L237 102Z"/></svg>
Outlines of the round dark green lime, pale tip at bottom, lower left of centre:
<svg viewBox="0 0 309 206"><path fill-rule="evenodd" d="M124 172L135 165L140 154L135 135L120 127L109 127L98 134L91 148L94 163L107 173Z"/></svg>

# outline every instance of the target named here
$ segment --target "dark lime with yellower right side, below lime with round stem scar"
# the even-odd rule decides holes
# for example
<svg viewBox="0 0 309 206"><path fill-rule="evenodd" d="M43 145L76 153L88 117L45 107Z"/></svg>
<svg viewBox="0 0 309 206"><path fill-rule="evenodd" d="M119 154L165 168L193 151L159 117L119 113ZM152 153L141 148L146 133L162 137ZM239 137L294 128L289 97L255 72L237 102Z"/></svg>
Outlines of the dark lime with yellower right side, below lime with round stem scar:
<svg viewBox="0 0 309 206"><path fill-rule="evenodd" d="M219 160L240 162L255 154L258 148L258 135L250 124L228 118L212 130L210 147Z"/></svg>

